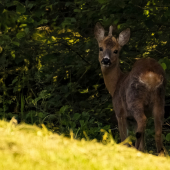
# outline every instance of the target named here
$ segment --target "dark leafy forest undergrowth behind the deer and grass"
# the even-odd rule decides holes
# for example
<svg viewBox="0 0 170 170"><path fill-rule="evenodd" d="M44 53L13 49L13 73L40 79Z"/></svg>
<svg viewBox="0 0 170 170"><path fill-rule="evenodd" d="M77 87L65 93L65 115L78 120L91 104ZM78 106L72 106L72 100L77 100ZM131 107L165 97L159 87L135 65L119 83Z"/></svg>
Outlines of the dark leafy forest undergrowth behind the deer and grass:
<svg viewBox="0 0 170 170"><path fill-rule="evenodd" d="M164 144L170 148L170 2L167 0L0 0L0 118L41 125L76 139L119 135L98 62L94 26L131 29L120 54L129 71L152 57L166 71ZM154 150L153 121L147 150ZM153 148L154 149L153 149Z"/></svg>

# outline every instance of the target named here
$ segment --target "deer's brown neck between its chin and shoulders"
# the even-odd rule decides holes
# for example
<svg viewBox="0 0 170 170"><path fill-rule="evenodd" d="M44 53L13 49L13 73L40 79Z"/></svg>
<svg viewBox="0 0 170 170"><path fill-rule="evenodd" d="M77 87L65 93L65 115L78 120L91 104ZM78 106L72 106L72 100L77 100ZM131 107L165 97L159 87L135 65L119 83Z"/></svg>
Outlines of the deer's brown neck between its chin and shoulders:
<svg viewBox="0 0 170 170"><path fill-rule="evenodd" d="M107 67L101 66L101 70L103 73L106 88L111 94L111 96L113 97L116 87L117 87L117 83L123 76L123 73L120 70L119 65L117 65L114 68L107 68Z"/></svg>

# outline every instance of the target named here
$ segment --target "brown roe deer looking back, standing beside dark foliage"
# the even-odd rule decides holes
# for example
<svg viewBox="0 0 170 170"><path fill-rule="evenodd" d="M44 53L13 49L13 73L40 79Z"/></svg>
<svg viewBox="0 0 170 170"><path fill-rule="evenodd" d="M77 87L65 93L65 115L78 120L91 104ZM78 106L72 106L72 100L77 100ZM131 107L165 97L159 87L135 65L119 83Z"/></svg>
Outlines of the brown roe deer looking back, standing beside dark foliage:
<svg viewBox="0 0 170 170"><path fill-rule="evenodd" d="M149 112L155 124L157 152L164 154L162 124L164 118L165 72L160 64L152 59L139 59L131 72L122 73L119 67L119 52L130 38L130 29L112 36L113 26L105 36L104 28L97 23L94 34L99 45L99 62L107 90L118 121L121 141L127 138L130 120L135 122L135 147L144 151L144 131Z"/></svg>

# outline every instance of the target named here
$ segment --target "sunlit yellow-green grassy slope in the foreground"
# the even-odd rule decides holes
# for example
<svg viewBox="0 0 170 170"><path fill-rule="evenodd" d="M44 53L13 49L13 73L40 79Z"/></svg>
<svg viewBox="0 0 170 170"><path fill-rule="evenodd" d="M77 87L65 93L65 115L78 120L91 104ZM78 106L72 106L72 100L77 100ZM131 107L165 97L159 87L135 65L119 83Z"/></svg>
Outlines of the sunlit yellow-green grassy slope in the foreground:
<svg viewBox="0 0 170 170"><path fill-rule="evenodd" d="M0 170L169 170L170 159L0 121Z"/></svg>

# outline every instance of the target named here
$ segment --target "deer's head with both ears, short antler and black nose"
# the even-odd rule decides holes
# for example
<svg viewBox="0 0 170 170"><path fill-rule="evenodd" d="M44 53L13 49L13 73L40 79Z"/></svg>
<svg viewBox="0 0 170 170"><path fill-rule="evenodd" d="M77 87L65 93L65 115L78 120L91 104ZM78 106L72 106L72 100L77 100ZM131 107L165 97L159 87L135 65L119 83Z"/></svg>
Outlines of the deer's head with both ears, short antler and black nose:
<svg viewBox="0 0 170 170"><path fill-rule="evenodd" d="M109 27L108 36L105 30L97 23L94 29L95 37L99 45L99 62L102 67L114 67L119 63L119 52L130 38L130 29L122 31L116 39L112 36L113 26Z"/></svg>

